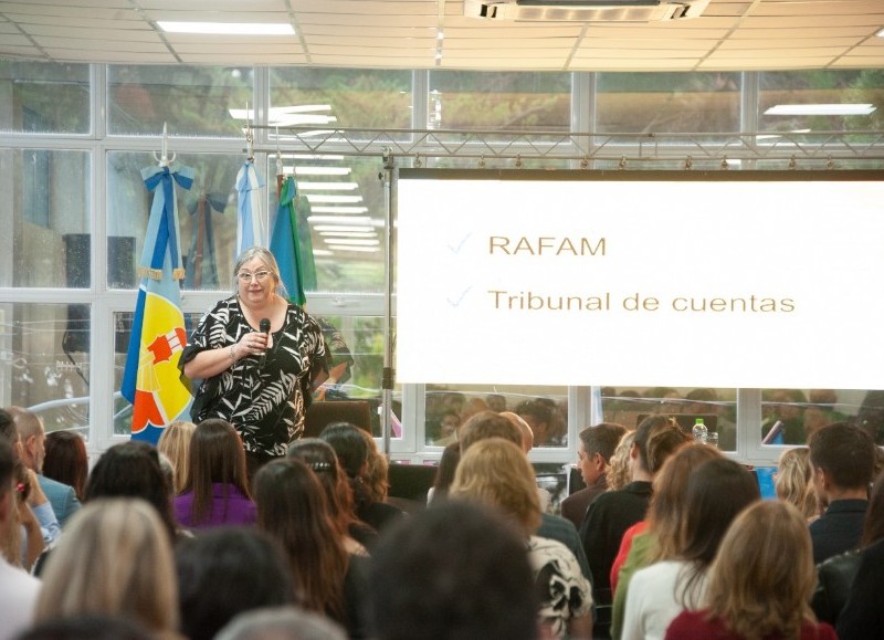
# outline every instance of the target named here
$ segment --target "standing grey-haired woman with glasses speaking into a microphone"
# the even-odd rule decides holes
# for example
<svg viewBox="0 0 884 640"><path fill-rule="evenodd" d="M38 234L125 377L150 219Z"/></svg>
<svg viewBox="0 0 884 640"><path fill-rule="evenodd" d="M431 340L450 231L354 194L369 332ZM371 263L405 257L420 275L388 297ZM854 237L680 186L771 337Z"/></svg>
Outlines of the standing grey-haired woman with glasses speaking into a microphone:
<svg viewBox="0 0 884 640"><path fill-rule="evenodd" d="M286 300L273 254L263 246L246 249L233 273L234 295L202 317L179 366L199 382L193 421L221 418L233 424L251 476L301 437L311 394L328 368L319 325ZM262 321L270 321L269 329Z"/></svg>

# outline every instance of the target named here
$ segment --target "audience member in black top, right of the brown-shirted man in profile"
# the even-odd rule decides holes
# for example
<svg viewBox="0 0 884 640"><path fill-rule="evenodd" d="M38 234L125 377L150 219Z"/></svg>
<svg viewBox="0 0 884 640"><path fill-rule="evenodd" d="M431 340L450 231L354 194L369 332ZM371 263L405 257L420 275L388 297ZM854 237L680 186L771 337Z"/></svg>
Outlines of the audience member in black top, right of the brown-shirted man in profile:
<svg viewBox="0 0 884 640"><path fill-rule="evenodd" d="M629 453L632 482L618 491L599 494L590 503L580 537L589 559L596 604L610 606L611 566L620 550L623 534L636 522L644 520L651 501L654 474L666 458L688 441L688 436L678 424L665 416L650 416L635 430L635 440ZM600 631L608 633L610 619L597 619Z"/></svg>

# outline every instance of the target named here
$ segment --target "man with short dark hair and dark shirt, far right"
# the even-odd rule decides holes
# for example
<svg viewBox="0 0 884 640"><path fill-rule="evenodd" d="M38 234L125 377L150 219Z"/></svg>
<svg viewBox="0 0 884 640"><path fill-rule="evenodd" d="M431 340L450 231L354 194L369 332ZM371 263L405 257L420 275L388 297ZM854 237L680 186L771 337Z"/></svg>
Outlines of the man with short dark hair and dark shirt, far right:
<svg viewBox="0 0 884 640"><path fill-rule="evenodd" d="M823 515L810 524L813 562L820 564L860 544L875 444L859 427L835 422L811 437L810 462L814 490L827 505Z"/></svg>

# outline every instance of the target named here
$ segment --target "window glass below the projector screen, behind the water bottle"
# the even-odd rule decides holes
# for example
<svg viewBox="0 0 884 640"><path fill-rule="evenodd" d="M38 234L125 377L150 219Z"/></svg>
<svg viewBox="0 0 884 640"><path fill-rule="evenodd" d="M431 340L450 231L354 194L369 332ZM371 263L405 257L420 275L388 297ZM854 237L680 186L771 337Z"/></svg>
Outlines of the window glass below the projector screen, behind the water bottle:
<svg viewBox="0 0 884 640"><path fill-rule="evenodd" d="M718 448L737 449L737 390L672 387L603 387L602 415L606 422L634 429L653 413L672 416L691 431L703 418L709 433L718 434Z"/></svg>

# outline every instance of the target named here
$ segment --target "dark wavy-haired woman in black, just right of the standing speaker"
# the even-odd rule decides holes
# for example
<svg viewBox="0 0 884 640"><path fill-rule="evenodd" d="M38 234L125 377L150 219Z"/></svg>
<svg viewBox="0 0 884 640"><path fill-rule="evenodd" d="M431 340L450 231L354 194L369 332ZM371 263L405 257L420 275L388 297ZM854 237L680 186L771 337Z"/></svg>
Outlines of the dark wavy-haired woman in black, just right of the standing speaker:
<svg viewBox="0 0 884 640"><path fill-rule="evenodd" d="M335 450L352 487L356 515L375 531L381 532L391 522L403 517L402 510L373 499L366 482L368 445L359 428L348 422L329 424L319 434Z"/></svg>

